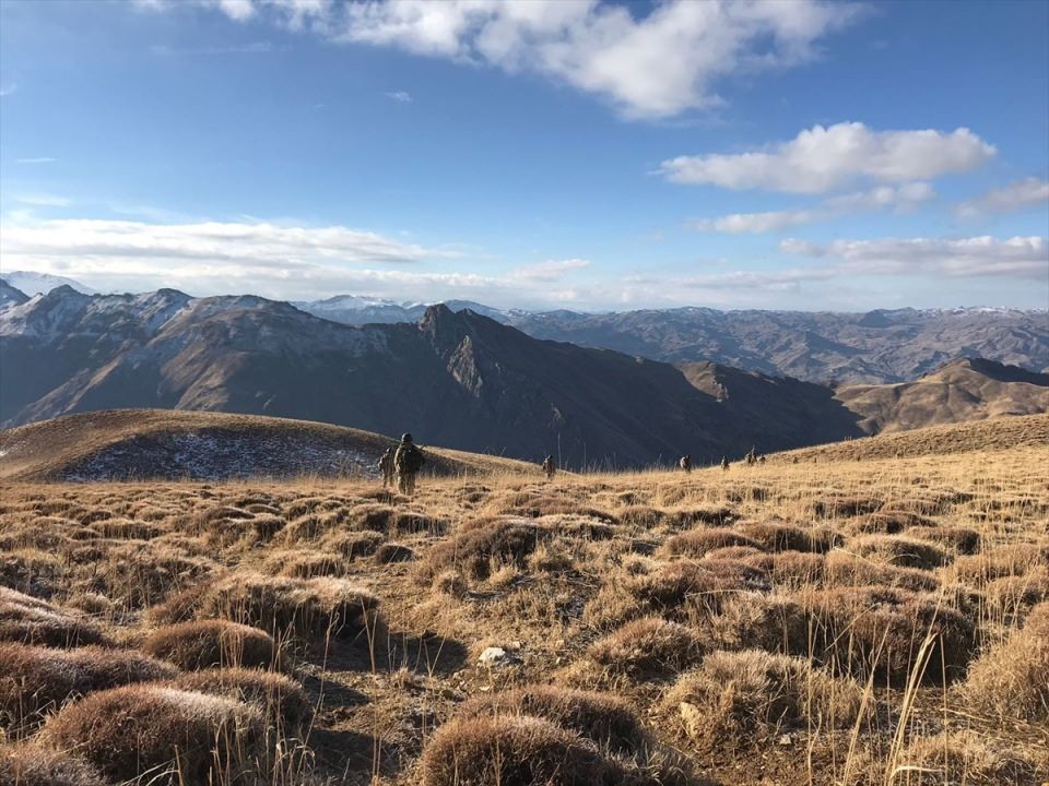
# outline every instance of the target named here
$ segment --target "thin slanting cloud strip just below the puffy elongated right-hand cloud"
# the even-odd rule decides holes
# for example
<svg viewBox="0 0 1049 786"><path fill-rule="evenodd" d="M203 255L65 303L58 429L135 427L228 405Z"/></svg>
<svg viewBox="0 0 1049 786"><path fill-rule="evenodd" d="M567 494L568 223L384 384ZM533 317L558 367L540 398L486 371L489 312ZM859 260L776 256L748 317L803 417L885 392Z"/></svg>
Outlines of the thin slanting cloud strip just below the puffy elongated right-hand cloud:
<svg viewBox="0 0 1049 786"><path fill-rule="evenodd" d="M820 206L810 210L733 213L717 218L697 218L688 222L687 226L696 231L759 235L783 231L803 224L829 221L849 213L877 210L908 212L933 196L935 196L935 191L927 182L905 183L899 187L880 186L869 191L856 191L832 196L824 200Z"/></svg>

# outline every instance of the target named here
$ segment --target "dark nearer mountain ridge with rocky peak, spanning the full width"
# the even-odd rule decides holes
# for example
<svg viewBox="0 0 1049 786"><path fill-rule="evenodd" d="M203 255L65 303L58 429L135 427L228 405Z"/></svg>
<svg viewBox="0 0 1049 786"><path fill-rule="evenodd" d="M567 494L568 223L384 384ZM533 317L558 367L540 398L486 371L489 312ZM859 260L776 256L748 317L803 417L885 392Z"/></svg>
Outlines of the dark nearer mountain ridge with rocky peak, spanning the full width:
<svg viewBox="0 0 1049 786"><path fill-rule="evenodd" d="M1049 374L963 359L829 385L538 340L468 309L346 325L254 296L62 286L0 310L0 422L118 407L273 415L565 466L639 466L1049 409Z"/></svg>

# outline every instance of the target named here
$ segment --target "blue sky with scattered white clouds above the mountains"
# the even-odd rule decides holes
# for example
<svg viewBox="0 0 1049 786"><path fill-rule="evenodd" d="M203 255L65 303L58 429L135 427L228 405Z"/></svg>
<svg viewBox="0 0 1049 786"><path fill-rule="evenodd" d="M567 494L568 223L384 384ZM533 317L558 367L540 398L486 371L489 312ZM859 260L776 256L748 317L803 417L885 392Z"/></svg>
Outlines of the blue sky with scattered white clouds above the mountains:
<svg viewBox="0 0 1049 786"><path fill-rule="evenodd" d="M0 267L1049 307L1049 3L0 3Z"/></svg>

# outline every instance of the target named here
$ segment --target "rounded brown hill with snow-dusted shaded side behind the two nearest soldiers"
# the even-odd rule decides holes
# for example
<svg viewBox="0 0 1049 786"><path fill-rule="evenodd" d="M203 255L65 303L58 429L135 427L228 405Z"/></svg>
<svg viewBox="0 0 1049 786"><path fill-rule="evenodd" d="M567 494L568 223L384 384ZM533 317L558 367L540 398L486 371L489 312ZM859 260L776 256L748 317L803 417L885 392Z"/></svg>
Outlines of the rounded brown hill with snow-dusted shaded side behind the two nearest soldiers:
<svg viewBox="0 0 1049 786"><path fill-rule="evenodd" d="M274 417L119 409L0 431L8 480L370 477L392 444L358 429ZM534 465L424 445L426 474L538 472Z"/></svg>

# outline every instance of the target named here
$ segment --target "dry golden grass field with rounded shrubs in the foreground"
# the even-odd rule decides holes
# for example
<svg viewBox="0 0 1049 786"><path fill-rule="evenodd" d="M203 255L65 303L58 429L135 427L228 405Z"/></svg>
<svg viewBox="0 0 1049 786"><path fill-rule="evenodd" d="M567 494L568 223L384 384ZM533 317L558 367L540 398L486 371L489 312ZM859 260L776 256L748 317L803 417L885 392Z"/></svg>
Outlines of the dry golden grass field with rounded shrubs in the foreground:
<svg viewBox="0 0 1049 786"><path fill-rule="evenodd" d="M982 452L900 434L929 451L491 472L412 500L9 483L0 642L106 677L63 671L36 705L19 682L0 779L39 751L26 783L113 784L177 746L184 783L215 786L1039 784L1049 448L1019 420ZM488 646L510 657L481 668ZM158 681L117 687L137 679Z"/></svg>

